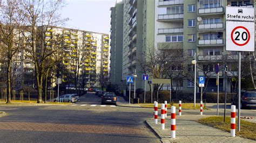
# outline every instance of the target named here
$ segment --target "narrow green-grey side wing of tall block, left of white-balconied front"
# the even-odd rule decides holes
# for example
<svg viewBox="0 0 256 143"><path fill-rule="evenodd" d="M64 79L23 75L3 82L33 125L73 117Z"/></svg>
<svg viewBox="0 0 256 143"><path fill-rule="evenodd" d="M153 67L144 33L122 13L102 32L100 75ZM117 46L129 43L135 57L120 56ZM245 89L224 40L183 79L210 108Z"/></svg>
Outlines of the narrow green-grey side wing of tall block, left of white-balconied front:
<svg viewBox="0 0 256 143"><path fill-rule="evenodd" d="M153 17L154 15L154 1L140 1L140 0L124 0L123 3L123 23L120 21L115 21L111 17L111 44L112 39L114 40L113 35L117 35L120 31L113 31L114 27L117 25L123 24L123 45L122 45L122 58L114 56L112 53L111 46L111 62L122 61L122 67L116 66L115 70L121 70L122 76L121 81L119 80L120 76L116 75L115 78L118 78L117 81L112 82L112 84L120 83L126 87L126 76L137 75L136 89L143 88L144 85L142 82L143 71L139 65L139 58L144 58L144 52L146 48L153 45ZM117 9L117 5L112 9ZM117 37L116 37L117 38ZM121 40L121 39L120 39ZM117 55L117 54L116 54ZM115 59L114 59L115 58ZM113 69L114 70L114 69ZM112 76L112 66L110 74ZM141 77L141 79L140 79ZM132 89L134 85L132 85Z"/></svg>

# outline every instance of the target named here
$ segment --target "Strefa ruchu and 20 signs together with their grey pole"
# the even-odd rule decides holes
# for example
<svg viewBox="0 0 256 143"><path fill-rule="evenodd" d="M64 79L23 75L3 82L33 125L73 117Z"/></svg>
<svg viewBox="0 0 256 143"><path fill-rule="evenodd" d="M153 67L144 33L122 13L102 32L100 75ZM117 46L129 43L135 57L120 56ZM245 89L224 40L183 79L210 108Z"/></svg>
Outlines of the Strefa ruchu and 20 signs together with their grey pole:
<svg viewBox="0 0 256 143"><path fill-rule="evenodd" d="M240 132L241 51L254 52L254 8L226 6L226 51L238 51L238 132Z"/></svg>

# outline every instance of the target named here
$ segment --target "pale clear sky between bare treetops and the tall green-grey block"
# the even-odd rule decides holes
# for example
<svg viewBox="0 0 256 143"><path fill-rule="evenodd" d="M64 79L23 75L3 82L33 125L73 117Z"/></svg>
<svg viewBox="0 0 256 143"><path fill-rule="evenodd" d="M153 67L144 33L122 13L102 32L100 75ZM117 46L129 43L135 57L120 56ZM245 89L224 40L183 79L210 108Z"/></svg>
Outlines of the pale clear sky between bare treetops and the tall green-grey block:
<svg viewBox="0 0 256 143"><path fill-rule="evenodd" d="M110 8L116 0L66 0L62 17L66 28L110 34Z"/></svg>

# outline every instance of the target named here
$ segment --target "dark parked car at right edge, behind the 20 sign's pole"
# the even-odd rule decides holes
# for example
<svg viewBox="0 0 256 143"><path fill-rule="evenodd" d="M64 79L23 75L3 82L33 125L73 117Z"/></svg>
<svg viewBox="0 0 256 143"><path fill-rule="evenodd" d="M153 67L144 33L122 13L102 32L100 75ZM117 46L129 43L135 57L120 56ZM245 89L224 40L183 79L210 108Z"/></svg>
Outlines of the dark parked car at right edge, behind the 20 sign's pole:
<svg viewBox="0 0 256 143"><path fill-rule="evenodd" d="M235 95L231 99L232 105L238 105L238 95ZM241 109L256 107L256 91L241 91Z"/></svg>

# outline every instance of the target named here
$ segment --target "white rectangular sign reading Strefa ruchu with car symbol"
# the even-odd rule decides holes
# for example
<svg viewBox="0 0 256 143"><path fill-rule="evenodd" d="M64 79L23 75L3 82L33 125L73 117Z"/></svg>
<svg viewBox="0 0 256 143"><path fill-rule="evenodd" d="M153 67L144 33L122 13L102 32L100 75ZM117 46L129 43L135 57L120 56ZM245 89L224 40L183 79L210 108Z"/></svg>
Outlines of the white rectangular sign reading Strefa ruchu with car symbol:
<svg viewBox="0 0 256 143"><path fill-rule="evenodd" d="M254 22L254 8L226 6L226 20Z"/></svg>

